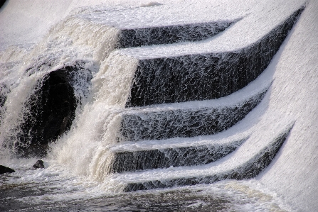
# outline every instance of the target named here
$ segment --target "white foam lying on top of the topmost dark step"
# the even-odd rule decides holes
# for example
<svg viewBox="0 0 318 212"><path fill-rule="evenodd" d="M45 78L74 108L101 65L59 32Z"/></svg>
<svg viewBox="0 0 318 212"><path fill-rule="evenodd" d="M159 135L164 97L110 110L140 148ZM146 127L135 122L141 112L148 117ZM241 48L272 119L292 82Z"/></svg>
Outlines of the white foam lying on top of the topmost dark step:
<svg viewBox="0 0 318 212"><path fill-rule="evenodd" d="M129 9L105 9L98 13L78 15L92 23L104 24L120 29L147 28L159 26L175 26L191 23L207 23L211 21L232 21L245 16L255 1L242 2L211 1L209 4L180 4L171 2L157 6L134 7ZM239 2L239 3L238 3ZM230 4L240 4L240 10L230 7ZM204 4L204 3L203 3ZM152 5L152 4L149 4Z"/></svg>

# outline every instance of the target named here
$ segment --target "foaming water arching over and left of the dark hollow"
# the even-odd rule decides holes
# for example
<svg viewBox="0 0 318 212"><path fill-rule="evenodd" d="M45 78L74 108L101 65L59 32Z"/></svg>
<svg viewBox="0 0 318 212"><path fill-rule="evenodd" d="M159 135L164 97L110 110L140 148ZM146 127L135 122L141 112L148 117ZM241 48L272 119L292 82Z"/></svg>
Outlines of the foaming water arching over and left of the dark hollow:
<svg viewBox="0 0 318 212"><path fill-rule="evenodd" d="M101 61L115 48L117 33L115 28L70 16L53 26L37 45L10 46L1 52L1 96L6 99L0 113L1 154L14 152L16 145L28 145L19 143L17 136L30 113L28 101L41 88L43 77L78 61L83 70L74 74L72 87L80 113L92 96L91 82L85 79L88 74L95 76Z"/></svg>

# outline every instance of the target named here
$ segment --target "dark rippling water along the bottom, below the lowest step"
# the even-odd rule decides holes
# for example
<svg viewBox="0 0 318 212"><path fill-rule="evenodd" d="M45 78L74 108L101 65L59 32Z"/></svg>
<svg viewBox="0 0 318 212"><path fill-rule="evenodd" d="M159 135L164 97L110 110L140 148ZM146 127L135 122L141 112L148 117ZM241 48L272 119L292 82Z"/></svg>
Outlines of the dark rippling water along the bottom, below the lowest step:
<svg viewBox="0 0 318 212"><path fill-rule="evenodd" d="M0 211L228 211L231 208L226 196L210 196L191 189L127 193L52 203L21 201L28 196L56 192L41 188L38 184L4 183L0 190Z"/></svg>

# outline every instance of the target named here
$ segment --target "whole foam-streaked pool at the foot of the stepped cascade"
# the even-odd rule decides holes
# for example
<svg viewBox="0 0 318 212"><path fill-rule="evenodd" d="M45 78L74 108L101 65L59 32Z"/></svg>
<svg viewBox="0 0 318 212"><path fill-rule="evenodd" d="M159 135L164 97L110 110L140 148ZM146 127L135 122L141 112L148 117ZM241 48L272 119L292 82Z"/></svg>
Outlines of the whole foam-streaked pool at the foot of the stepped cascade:
<svg viewBox="0 0 318 212"><path fill-rule="evenodd" d="M251 182L224 181L129 193L107 192L85 177L71 176L45 160L11 161L20 167L1 175L1 211L290 211L275 192Z"/></svg>

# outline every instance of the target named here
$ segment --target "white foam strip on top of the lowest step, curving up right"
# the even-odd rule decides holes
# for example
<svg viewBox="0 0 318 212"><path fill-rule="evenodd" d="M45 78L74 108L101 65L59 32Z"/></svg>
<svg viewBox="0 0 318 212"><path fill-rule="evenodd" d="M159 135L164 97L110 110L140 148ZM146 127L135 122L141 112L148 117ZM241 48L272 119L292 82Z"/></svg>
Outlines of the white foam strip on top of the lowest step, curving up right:
<svg viewBox="0 0 318 212"><path fill-rule="evenodd" d="M248 162L250 159L255 157L258 152L272 143L273 140L277 138L277 135L286 130L286 125L284 124L272 123L272 128L268 129L270 132L263 131L264 135L261 138L252 134L250 138L243 143L243 145L238 147L238 150L211 164L198 165L194 167L169 167L167 169L152 169L144 172L113 174L109 178L113 178L122 184L127 184L129 182L149 182L155 180L166 181L169 179L214 176L215 174L230 172L230 170L242 167L245 162ZM290 123L288 123L288 125L290 125Z"/></svg>

